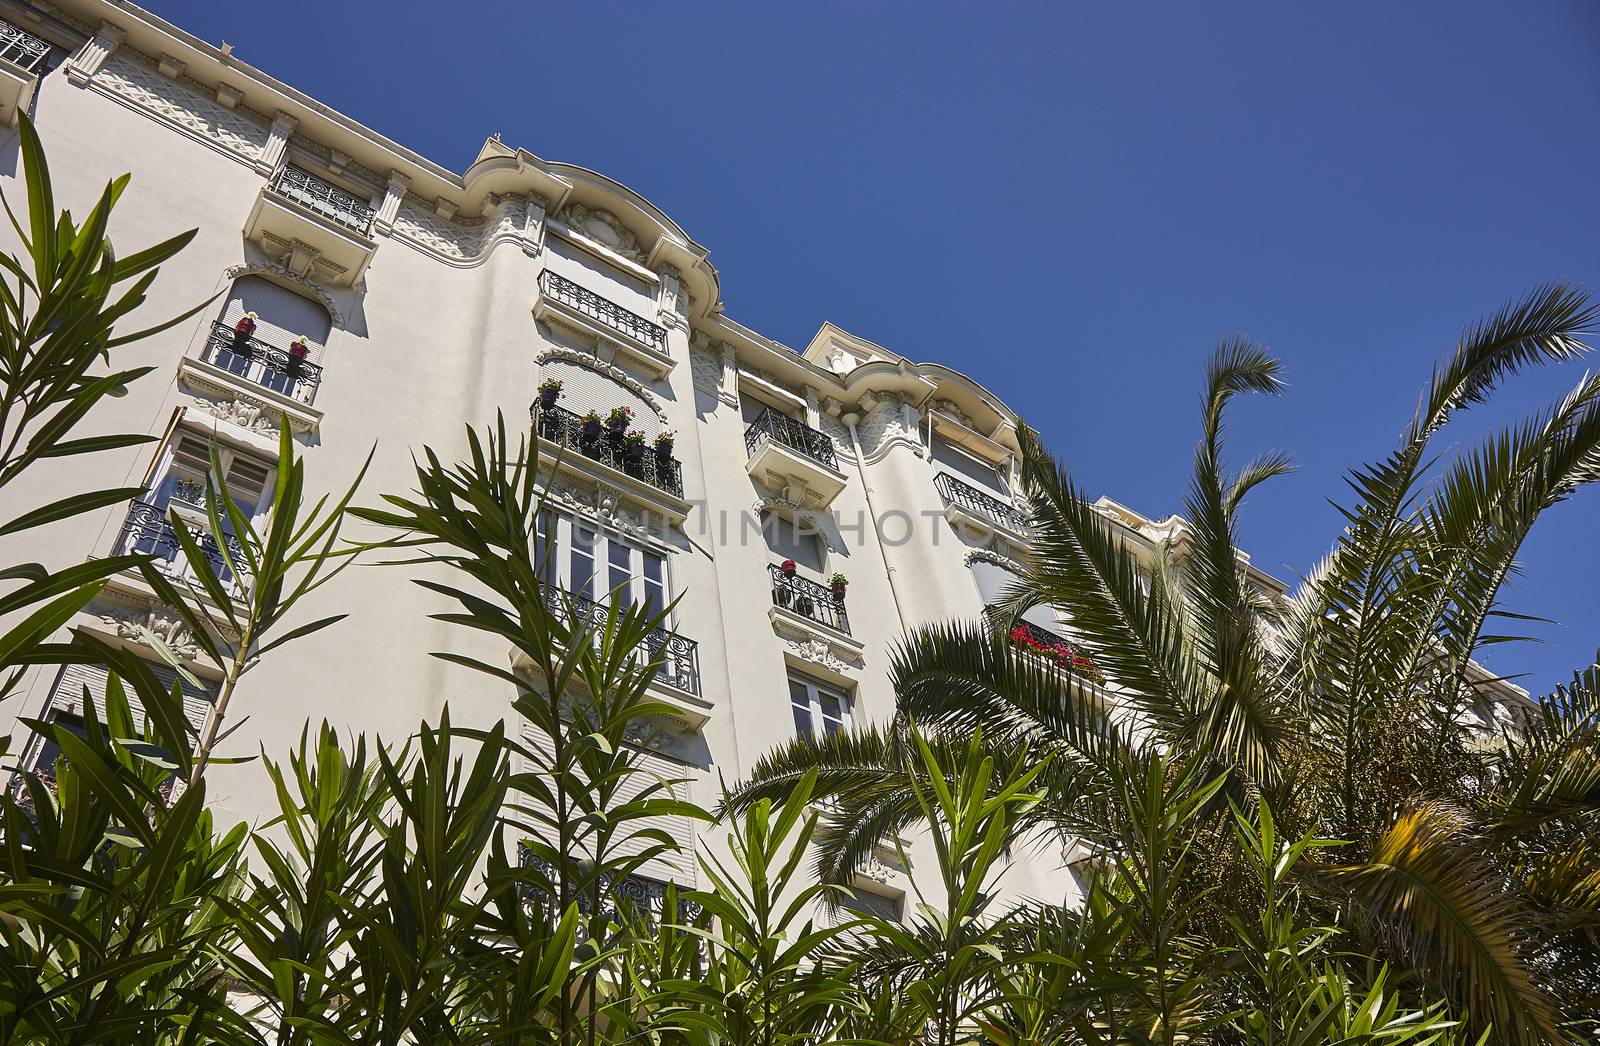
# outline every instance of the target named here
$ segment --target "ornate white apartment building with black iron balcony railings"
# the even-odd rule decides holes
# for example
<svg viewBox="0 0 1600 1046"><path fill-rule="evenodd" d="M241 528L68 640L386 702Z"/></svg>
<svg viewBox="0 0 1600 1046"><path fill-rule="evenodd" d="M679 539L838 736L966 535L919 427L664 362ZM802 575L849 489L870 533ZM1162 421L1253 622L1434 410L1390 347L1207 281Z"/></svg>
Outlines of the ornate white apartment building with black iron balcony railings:
<svg viewBox="0 0 1600 1046"><path fill-rule="evenodd" d="M163 265L149 315L216 296L134 345L157 373L91 417L96 430L160 441L64 459L27 499L146 493L50 528L46 547L13 544L6 561L61 568L141 550L181 576L189 565L166 513L197 499L208 443L264 518L283 416L314 488L341 489L376 443L360 499L374 504L411 488L413 448L450 461L464 425L496 411L520 424L531 408L546 461L562 454L558 469L547 464L560 585L597 603L618 590L658 606L680 598L656 686L677 713L651 734L650 760L691 777L706 806L720 779L742 779L797 731L886 720L894 640L979 616L1016 568L1027 544L1013 501L1018 433L995 395L834 325L798 352L742 326L723 312L707 250L632 189L498 139L464 173L445 170L130 3L0 0L0 126L18 110L34 118L58 202L83 208L130 171L114 240L200 230ZM0 130L11 198L24 197L19 174L16 131ZM246 313L256 325L240 334ZM549 377L563 390L542 406L536 387ZM621 406L643 443L584 424L587 411ZM667 451L653 446L662 432L674 433ZM1106 510L1134 539L1171 536L1171 520ZM243 726L224 755L282 757L320 720L402 741L446 702L458 725L506 718L510 694L430 657L506 651L430 621L445 603L411 573L357 568L317 592L302 621L349 619L245 677L229 721ZM843 598L834 573L848 576ZM1030 619L1056 629L1048 611ZM192 649L131 576L75 627L146 653L146 630ZM18 717L70 721L85 685L104 680L35 670L0 705L0 731ZM192 697L200 718L208 694ZM50 758L37 741L21 753L24 765ZM259 763L210 773L219 819L275 811ZM686 820L666 827L688 848L715 844ZM1075 856L1019 852L1005 889L1070 899ZM694 883L683 864L653 875ZM906 872L885 852L859 884L898 908Z"/></svg>

